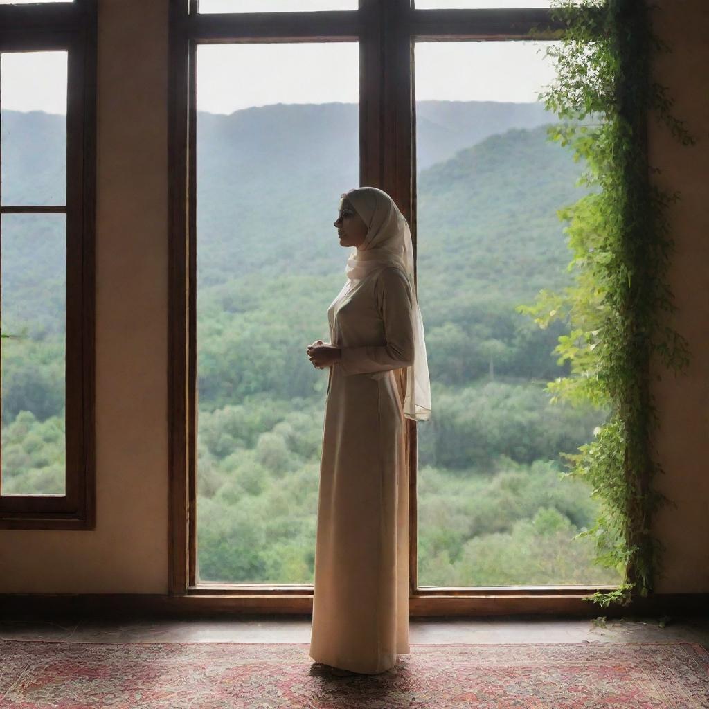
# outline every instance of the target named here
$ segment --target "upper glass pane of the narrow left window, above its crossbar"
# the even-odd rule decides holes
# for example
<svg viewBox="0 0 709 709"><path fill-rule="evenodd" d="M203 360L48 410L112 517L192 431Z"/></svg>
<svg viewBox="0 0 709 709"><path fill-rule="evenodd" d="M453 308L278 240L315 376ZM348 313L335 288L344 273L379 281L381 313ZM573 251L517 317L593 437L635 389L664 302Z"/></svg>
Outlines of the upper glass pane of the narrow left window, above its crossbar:
<svg viewBox="0 0 709 709"><path fill-rule="evenodd" d="M67 201L67 52L0 57L2 203Z"/></svg>

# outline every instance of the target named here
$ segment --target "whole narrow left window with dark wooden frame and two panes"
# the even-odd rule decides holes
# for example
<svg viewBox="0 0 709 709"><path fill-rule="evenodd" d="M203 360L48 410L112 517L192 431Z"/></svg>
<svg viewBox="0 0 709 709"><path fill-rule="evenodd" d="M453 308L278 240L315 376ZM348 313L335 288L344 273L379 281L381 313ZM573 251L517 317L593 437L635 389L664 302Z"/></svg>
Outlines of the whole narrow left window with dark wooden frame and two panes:
<svg viewBox="0 0 709 709"><path fill-rule="evenodd" d="M92 529L95 9L0 5L0 526Z"/></svg>

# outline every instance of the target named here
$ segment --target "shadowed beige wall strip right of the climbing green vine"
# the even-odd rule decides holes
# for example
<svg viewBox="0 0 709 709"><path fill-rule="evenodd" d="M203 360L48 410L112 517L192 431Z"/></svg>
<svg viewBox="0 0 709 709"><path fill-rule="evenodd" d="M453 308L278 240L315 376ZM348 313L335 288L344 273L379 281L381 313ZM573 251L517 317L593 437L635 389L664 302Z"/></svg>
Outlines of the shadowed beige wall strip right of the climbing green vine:
<svg viewBox="0 0 709 709"><path fill-rule="evenodd" d="M675 378L656 362L654 396L660 423L657 487L676 503L661 508L654 532L666 545L661 593L709 591L709 7L706 0L661 0L657 31L672 48L657 62L656 79L669 86L674 114L697 145L682 147L651 123L650 162L659 182L679 190L671 207L675 251L669 272L674 326L686 337L691 366Z"/></svg>

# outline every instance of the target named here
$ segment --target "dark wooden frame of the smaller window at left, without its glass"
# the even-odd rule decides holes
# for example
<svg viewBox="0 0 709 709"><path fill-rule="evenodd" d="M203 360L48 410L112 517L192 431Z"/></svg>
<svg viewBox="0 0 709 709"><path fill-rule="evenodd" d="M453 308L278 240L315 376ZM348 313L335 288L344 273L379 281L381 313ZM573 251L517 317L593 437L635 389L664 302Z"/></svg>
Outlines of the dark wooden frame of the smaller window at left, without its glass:
<svg viewBox="0 0 709 709"><path fill-rule="evenodd" d="M67 51L66 203L1 211L66 215L66 493L3 495L0 489L0 528L93 530L96 0L0 6L0 51L42 50Z"/></svg>

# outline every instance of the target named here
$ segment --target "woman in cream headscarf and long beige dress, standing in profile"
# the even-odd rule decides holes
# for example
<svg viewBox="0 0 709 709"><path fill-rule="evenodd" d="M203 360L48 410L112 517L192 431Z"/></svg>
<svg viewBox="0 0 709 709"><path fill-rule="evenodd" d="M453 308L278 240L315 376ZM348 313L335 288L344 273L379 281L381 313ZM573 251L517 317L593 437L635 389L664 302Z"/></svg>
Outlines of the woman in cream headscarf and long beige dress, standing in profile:
<svg viewBox="0 0 709 709"><path fill-rule="evenodd" d="M328 309L330 342L307 348L314 367L329 368L310 656L335 674L379 674L409 652L403 433L405 417L430 416L428 364L396 204L375 187L352 189L335 228L356 250Z"/></svg>

